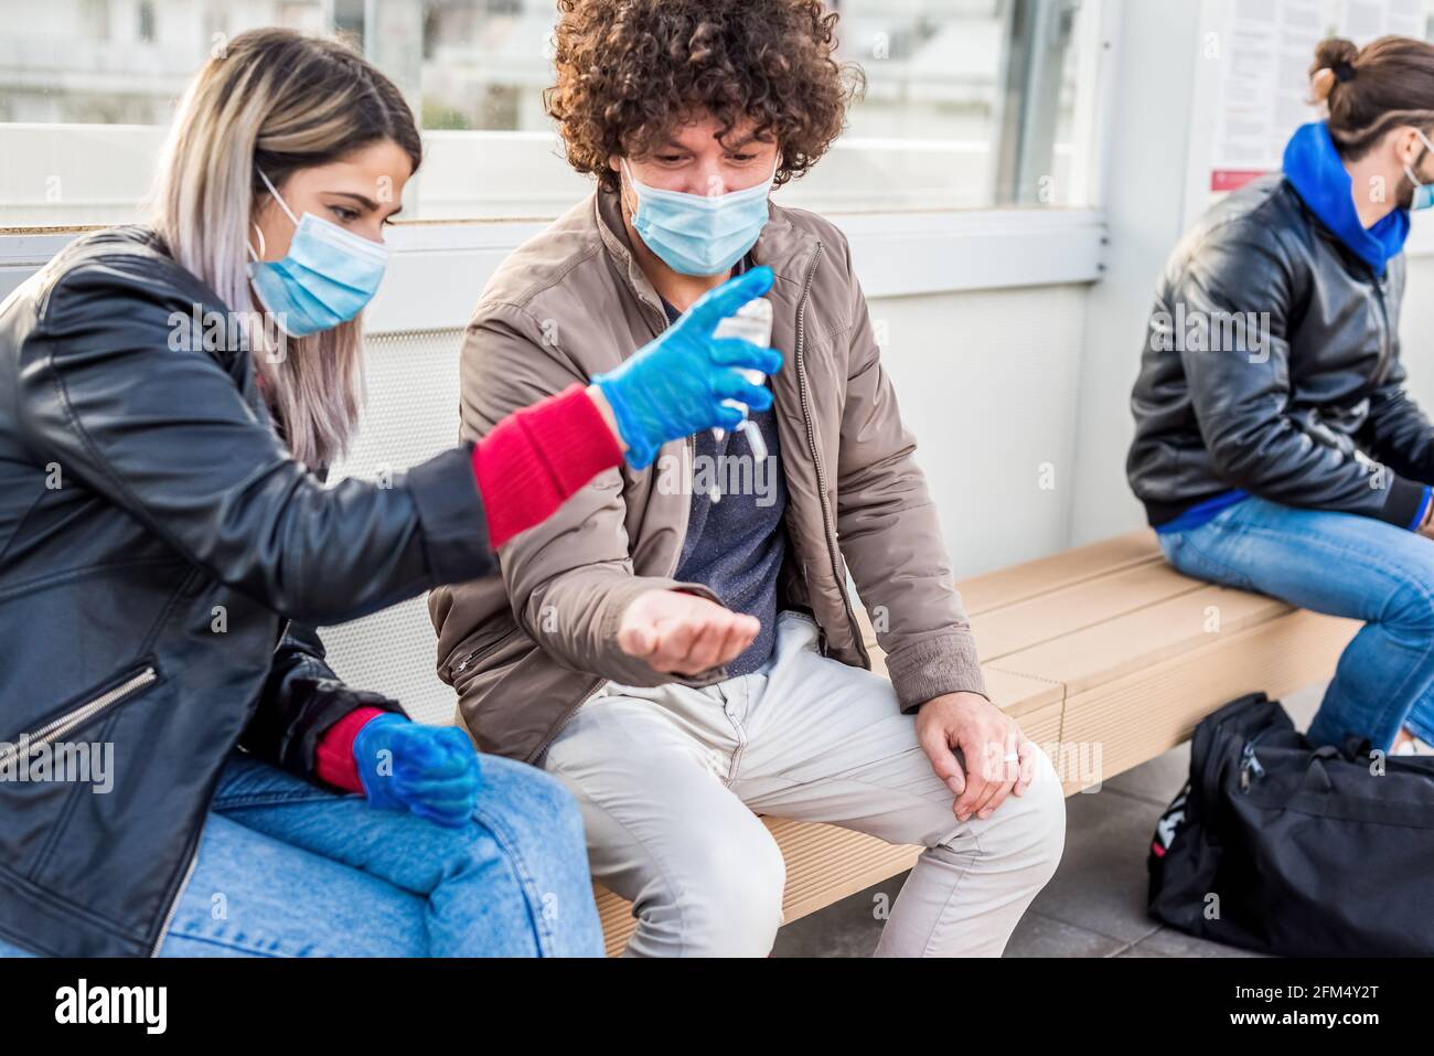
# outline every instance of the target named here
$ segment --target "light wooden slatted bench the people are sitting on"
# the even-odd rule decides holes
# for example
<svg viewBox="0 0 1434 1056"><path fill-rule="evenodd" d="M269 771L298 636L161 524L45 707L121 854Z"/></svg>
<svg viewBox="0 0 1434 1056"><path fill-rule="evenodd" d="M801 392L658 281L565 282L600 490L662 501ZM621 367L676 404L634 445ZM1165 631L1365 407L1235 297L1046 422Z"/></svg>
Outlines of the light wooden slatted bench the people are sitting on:
<svg viewBox="0 0 1434 1056"><path fill-rule="evenodd" d="M1359 630L1174 572L1139 531L962 584L997 703L1055 763L1067 795L1187 740L1202 717L1253 690L1329 679ZM873 664L880 651L868 626ZM921 848L832 825L763 818L787 864L786 923L909 869ZM635 927L601 885L609 954Z"/></svg>

